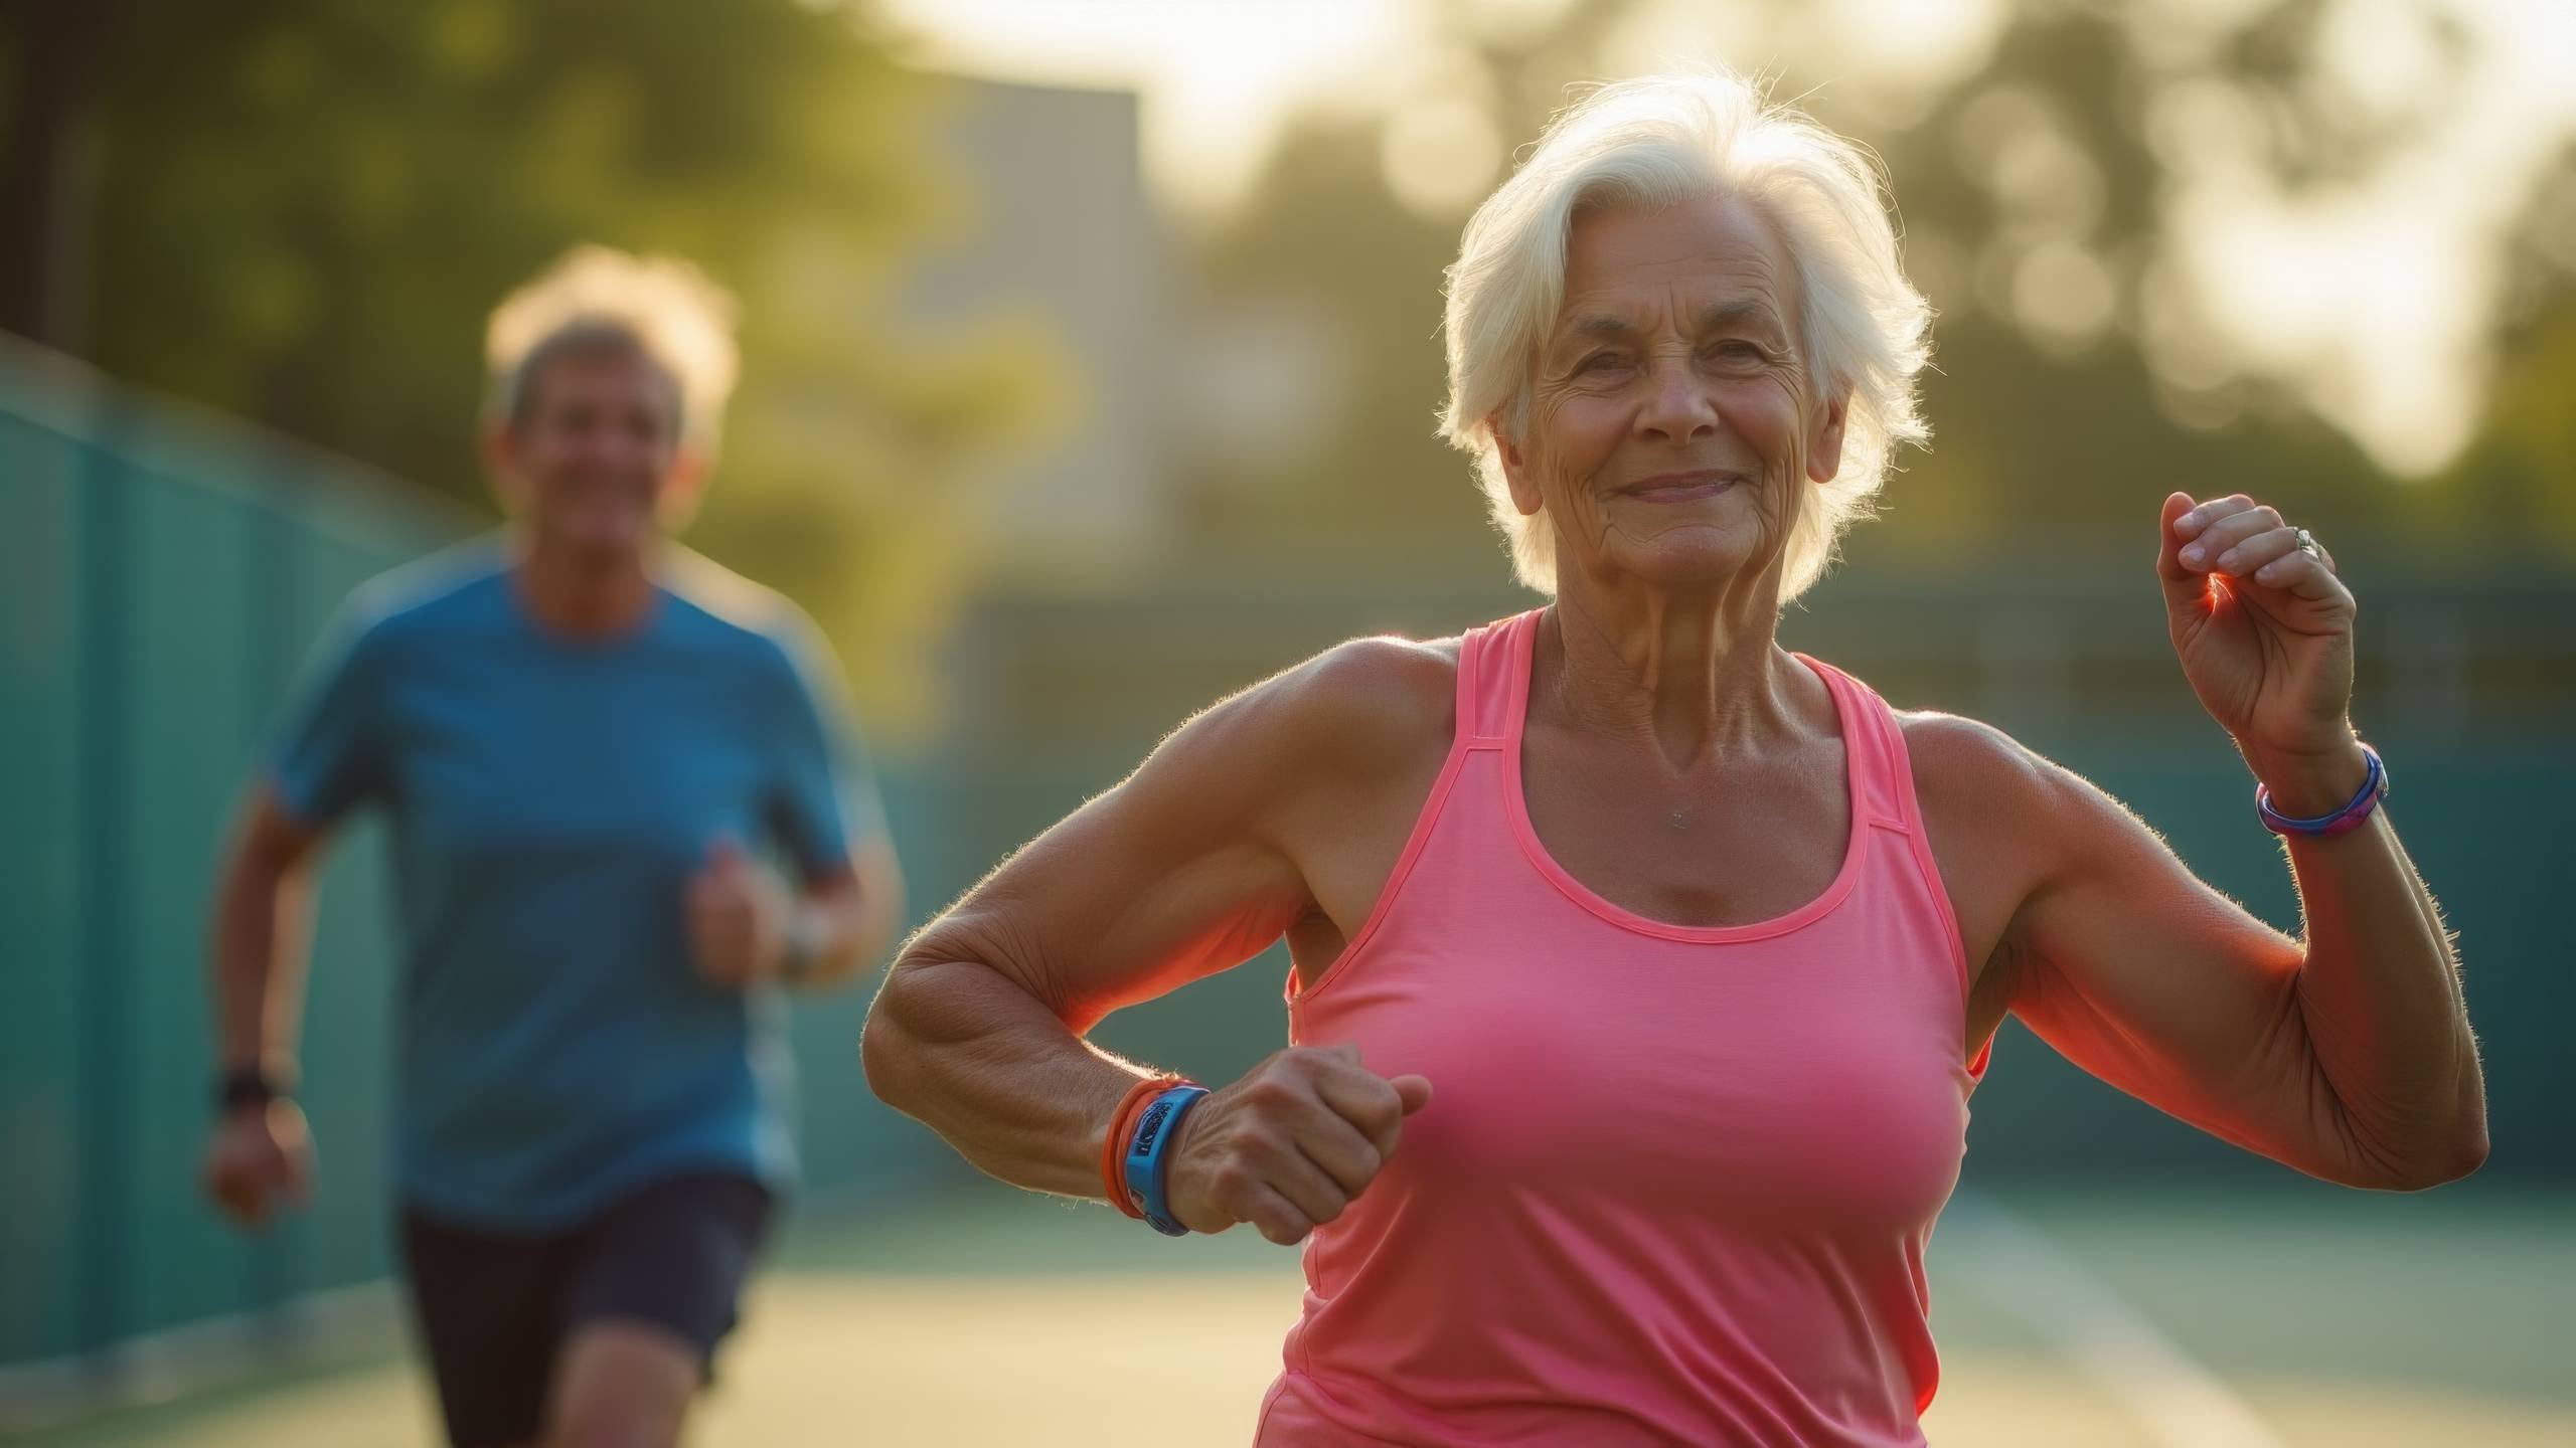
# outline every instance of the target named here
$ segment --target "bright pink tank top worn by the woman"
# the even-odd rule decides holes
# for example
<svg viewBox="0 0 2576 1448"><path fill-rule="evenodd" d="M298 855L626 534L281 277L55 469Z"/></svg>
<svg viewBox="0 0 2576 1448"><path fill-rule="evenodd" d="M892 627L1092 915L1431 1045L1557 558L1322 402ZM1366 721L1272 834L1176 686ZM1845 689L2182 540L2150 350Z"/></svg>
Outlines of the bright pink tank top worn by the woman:
<svg viewBox="0 0 2576 1448"><path fill-rule="evenodd" d="M1530 827L1543 611L1466 636L1458 739L1291 1038L1432 1103L1306 1239L1265 1448L1922 1443L1924 1242L1958 1183L1968 966L1904 737L1816 660L1852 832L1834 884L1682 928L1584 889Z"/></svg>

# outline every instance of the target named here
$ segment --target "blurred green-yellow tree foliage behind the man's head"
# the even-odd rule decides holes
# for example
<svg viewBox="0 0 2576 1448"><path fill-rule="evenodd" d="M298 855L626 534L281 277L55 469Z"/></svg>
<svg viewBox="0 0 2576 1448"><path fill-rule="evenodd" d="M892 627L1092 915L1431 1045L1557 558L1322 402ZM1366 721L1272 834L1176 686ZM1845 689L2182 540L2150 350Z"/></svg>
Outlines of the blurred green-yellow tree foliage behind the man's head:
<svg viewBox="0 0 2576 1448"><path fill-rule="evenodd" d="M90 327L18 296L8 325L482 500L487 309L585 240L698 260L742 299L744 374L693 541L814 608L876 716L927 716L974 567L958 490L1056 358L884 317L953 198L914 144L938 82L853 5L124 0L106 39L85 13L8 18L0 234L13 283L85 252L41 299ZM49 70L85 44L88 75Z"/></svg>

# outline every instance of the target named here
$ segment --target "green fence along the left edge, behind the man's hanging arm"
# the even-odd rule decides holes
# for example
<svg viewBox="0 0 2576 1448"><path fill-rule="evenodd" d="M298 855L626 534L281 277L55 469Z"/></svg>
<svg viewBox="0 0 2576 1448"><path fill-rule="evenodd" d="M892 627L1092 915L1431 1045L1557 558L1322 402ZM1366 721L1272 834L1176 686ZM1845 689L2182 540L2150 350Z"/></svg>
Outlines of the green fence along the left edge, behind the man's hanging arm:
<svg viewBox="0 0 2576 1448"><path fill-rule="evenodd" d="M459 520L39 353L0 356L0 1360L379 1275L379 840L325 889L325 1206L245 1242L193 1185L216 843L281 683L358 580Z"/></svg>

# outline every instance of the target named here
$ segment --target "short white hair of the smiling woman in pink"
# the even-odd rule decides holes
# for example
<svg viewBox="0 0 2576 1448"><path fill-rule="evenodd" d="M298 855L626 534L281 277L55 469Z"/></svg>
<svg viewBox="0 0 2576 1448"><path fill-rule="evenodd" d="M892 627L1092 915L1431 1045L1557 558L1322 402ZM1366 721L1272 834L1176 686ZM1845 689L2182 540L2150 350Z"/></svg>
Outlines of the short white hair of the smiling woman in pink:
<svg viewBox="0 0 2576 1448"><path fill-rule="evenodd" d="M1589 209L1662 209L1739 196L1780 232L1798 271L1814 397L1847 392L1842 469L1798 490L1780 600L1806 593L1834 541L1870 513L1896 443L1929 438L1914 376L1932 309L1906 281L1878 160L1734 75L1651 75L1592 90L1476 209L1448 271L1450 397L1440 433L1473 453L1512 572L1556 593L1548 515L1522 515L1499 441L1525 441L1530 376L1566 291L1566 242ZM1499 435L1497 435L1499 428Z"/></svg>

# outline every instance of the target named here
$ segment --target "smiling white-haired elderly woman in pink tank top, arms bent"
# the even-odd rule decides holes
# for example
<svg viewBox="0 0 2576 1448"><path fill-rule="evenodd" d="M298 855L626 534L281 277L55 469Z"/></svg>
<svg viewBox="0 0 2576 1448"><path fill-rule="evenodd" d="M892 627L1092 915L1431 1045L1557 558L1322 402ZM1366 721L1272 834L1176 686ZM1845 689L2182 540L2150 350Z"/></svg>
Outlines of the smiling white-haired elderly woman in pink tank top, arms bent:
<svg viewBox="0 0 2576 1448"><path fill-rule="evenodd" d="M1448 435L1553 603L1218 703L896 961L868 1077L981 1170L1306 1242L1260 1443L1919 1443L2004 1013L2318 1177L2486 1154L2300 528L2177 492L2156 580L2303 940L2002 732L1780 649L1922 438L1924 319L1857 147L1736 80L1595 93L1448 304ZM1280 935L1293 1046L1239 1082L1084 1041Z"/></svg>

